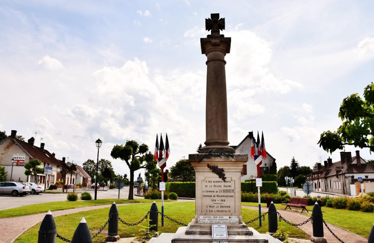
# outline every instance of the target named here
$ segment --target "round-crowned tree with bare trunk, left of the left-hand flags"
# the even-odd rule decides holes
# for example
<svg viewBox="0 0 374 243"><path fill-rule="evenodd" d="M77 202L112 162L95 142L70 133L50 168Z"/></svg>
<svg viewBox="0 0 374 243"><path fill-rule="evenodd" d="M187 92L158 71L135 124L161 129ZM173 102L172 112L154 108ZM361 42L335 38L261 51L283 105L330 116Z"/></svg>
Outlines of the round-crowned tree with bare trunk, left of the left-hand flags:
<svg viewBox="0 0 374 243"><path fill-rule="evenodd" d="M146 144L139 144L134 140L128 140L126 144L115 145L110 155L113 159L121 159L126 162L130 169L129 200L134 199L134 172L140 168L152 170L156 167L156 162L151 152L148 152Z"/></svg>

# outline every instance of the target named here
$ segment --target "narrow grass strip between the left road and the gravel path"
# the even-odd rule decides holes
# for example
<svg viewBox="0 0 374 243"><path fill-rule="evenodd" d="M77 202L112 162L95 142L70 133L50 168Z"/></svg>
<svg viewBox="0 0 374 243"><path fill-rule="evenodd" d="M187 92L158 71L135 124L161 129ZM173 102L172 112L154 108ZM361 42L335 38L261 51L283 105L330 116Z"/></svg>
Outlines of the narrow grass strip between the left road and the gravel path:
<svg viewBox="0 0 374 243"><path fill-rule="evenodd" d="M10 208L4 209L0 211L0 218L8 218L8 217L17 217L17 216L25 216L37 213L45 213L48 210L57 211L57 210L65 210L65 209L72 209L72 208L83 208L89 206L96 206L96 205L106 205L112 204L113 201L116 204L121 203L152 203L153 201L161 202L161 200L151 200L151 199L137 199L137 200L127 200L127 199L98 199L98 200L90 200L90 201L64 201L64 202L52 202L52 203L41 203L41 204L32 204L27 206L22 206L18 208ZM165 200L165 202L168 202Z"/></svg>

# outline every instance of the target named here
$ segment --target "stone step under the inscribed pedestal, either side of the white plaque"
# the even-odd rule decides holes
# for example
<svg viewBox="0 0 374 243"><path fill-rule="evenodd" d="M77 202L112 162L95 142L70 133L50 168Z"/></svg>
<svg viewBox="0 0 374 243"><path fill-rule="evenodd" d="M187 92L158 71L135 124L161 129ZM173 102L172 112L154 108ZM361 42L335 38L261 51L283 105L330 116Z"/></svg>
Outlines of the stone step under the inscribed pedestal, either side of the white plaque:
<svg viewBox="0 0 374 243"><path fill-rule="evenodd" d="M185 230L186 235L212 235L212 224L196 224L195 219L187 226ZM248 229L244 223L242 224L228 224L228 235L253 235L253 232Z"/></svg>

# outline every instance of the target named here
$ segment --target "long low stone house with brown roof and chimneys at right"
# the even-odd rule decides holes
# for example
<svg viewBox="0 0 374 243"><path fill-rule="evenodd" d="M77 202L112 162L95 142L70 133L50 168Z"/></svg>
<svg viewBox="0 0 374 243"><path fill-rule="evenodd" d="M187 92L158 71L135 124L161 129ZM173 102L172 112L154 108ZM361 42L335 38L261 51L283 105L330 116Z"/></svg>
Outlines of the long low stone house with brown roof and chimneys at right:
<svg viewBox="0 0 374 243"><path fill-rule="evenodd" d="M360 151L352 157L351 152L340 152L340 161L328 158L324 165L307 175L313 191L333 192L345 195L356 195L355 183L374 181L374 168L360 157ZM360 178L360 181L359 181ZM362 186L363 188L363 186Z"/></svg>

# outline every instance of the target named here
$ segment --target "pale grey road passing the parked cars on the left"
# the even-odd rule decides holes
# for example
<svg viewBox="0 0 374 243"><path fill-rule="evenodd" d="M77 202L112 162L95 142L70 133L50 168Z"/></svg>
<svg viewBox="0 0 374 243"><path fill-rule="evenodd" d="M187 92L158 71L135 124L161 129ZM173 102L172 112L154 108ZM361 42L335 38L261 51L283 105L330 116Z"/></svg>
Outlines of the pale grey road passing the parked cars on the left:
<svg viewBox="0 0 374 243"><path fill-rule="evenodd" d="M72 191L72 190L69 190ZM78 190L78 192L88 191L91 193L92 198L94 198L94 190ZM136 188L134 188L136 192ZM0 195L0 210L15 208L25 205L38 204L38 203L50 203L50 202L59 202L66 201L66 193L40 193L38 195L27 194L26 196L11 196L11 195ZM120 190L119 198L127 199L129 197L129 187L124 187ZM99 189L97 190L97 199L106 199L106 198L118 198L117 189ZM134 195L134 199L143 198L142 196Z"/></svg>

